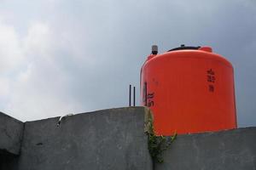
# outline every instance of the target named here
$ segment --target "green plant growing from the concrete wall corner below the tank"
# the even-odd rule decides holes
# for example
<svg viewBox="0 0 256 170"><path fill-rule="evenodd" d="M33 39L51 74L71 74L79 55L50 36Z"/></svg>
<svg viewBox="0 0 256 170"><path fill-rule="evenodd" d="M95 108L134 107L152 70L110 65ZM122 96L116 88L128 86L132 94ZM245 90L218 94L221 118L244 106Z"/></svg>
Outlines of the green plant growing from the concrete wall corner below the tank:
<svg viewBox="0 0 256 170"><path fill-rule="evenodd" d="M162 157L162 153L164 150L167 150L169 146L172 144L174 139L177 137L177 133L175 133L171 137L166 136L157 136L154 133L154 125L153 125L153 116L152 113L147 116L147 123L146 123L146 133L148 133L148 150L150 156L152 157L153 161L162 163L164 161Z"/></svg>

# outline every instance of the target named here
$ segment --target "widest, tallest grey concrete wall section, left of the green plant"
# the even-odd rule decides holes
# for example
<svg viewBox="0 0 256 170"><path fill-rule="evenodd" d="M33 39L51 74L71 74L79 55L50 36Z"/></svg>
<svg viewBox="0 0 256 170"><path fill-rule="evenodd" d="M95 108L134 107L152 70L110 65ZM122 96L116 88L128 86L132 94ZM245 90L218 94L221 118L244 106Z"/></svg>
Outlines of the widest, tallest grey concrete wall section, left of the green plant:
<svg viewBox="0 0 256 170"><path fill-rule="evenodd" d="M152 169L143 107L26 122L19 170Z"/></svg>

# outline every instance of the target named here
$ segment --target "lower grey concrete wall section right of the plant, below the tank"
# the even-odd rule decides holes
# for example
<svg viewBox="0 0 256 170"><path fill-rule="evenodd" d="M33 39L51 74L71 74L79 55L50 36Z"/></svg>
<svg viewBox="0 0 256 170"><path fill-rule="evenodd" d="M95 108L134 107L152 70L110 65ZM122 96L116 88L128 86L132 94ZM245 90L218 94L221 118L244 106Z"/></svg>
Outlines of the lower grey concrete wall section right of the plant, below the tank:
<svg viewBox="0 0 256 170"><path fill-rule="evenodd" d="M156 170L255 170L256 127L177 136Z"/></svg>

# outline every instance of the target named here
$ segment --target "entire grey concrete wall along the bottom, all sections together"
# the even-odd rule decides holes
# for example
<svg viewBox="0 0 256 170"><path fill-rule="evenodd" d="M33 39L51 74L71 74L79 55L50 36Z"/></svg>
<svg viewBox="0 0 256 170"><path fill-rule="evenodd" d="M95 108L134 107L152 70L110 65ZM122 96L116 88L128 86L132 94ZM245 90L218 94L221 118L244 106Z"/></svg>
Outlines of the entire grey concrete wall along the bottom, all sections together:
<svg viewBox="0 0 256 170"><path fill-rule="evenodd" d="M145 116L144 107L94 111L58 127L60 117L22 123L0 113L0 170L153 169ZM178 135L163 158L154 169L256 169L256 127Z"/></svg>

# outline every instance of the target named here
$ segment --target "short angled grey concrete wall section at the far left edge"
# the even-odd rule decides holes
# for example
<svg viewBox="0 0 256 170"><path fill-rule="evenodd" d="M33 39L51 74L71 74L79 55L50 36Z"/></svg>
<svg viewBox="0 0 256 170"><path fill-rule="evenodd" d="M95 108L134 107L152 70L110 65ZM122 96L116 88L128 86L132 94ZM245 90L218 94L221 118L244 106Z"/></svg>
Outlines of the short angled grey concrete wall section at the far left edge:
<svg viewBox="0 0 256 170"><path fill-rule="evenodd" d="M0 152L19 155L23 122L0 112Z"/></svg>

